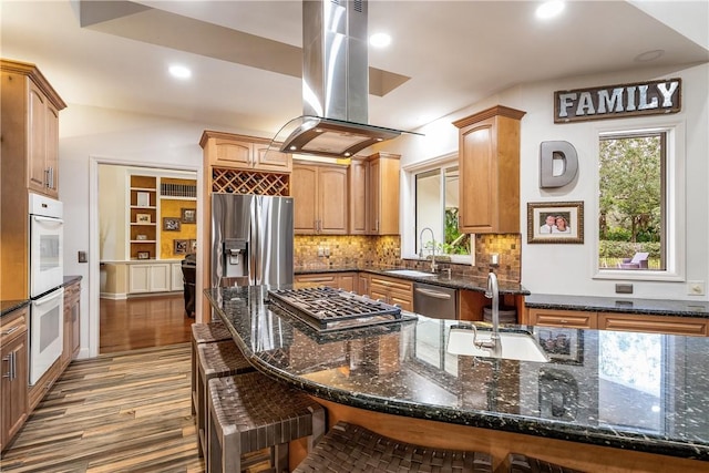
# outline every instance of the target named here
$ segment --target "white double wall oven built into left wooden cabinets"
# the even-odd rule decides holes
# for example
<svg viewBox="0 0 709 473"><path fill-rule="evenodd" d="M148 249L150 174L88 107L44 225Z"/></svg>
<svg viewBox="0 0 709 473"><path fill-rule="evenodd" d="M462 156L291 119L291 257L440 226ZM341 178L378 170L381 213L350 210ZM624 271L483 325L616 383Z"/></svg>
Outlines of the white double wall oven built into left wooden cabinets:
<svg viewBox="0 0 709 473"><path fill-rule="evenodd" d="M64 222L62 203L29 194L30 384L35 384L63 350Z"/></svg>

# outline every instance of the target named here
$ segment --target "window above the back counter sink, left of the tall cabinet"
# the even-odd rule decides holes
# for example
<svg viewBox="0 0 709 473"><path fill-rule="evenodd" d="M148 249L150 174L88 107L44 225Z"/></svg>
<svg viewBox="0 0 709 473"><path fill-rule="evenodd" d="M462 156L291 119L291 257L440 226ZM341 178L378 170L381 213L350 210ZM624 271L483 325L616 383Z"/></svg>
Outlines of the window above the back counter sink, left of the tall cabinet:
<svg viewBox="0 0 709 473"><path fill-rule="evenodd" d="M470 235L458 229L458 162L414 175L415 253L428 257L470 255ZM458 259L458 258L453 258Z"/></svg>

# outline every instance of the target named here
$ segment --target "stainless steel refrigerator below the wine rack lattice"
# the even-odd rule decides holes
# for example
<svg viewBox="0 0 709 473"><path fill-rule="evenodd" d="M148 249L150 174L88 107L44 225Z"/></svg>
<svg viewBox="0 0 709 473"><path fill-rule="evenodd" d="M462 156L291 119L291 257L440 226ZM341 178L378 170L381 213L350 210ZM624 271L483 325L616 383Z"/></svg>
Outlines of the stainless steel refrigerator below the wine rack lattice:
<svg viewBox="0 0 709 473"><path fill-rule="evenodd" d="M292 284L292 197L212 195L212 287Z"/></svg>

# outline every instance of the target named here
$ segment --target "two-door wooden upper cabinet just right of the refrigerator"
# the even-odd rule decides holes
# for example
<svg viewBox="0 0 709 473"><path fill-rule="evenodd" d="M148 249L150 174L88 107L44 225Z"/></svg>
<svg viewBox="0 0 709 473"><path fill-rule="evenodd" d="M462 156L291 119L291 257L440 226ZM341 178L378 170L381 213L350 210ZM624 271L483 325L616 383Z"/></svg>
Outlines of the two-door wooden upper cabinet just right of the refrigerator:
<svg viewBox="0 0 709 473"><path fill-rule="evenodd" d="M294 164L292 188L297 235L347 234L347 168Z"/></svg>

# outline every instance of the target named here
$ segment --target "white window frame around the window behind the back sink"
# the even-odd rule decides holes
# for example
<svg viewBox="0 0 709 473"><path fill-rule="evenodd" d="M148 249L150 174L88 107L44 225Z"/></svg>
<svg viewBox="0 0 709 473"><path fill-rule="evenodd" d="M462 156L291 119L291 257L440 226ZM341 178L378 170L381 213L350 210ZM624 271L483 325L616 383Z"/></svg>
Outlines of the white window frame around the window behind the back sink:
<svg viewBox="0 0 709 473"><path fill-rule="evenodd" d="M459 166L459 153L458 151L444 154L438 157L432 157L430 160L424 160L419 163L412 164L410 166L404 167L404 173L407 176L408 183L408 195L409 202L414 208L414 212L411 213L411 216L404 217L403 228L405 232L402 233L402 253L401 257L403 259L420 259L425 260L427 258L419 258L417 253L417 244L419 236L417 235L417 222L415 222L415 205L417 205L417 174L422 174L427 172L431 172L434 169L441 169L445 167L455 167ZM443 215L441 215L443 218ZM470 255L444 255L451 258L452 264L462 264L462 265L475 265L475 235L471 235L471 248ZM438 256L438 255L436 255Z"/></svg>

